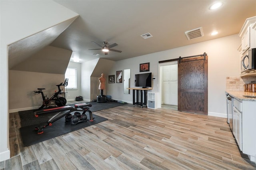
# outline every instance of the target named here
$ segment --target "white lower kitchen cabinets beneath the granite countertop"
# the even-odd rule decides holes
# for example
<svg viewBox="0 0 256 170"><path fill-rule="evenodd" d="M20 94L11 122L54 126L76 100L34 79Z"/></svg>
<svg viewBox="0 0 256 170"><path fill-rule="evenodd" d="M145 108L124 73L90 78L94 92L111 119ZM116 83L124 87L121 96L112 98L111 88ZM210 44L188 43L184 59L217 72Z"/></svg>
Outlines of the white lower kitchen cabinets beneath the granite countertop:
<svg viewBox="0 0 256 170"><path fill-rule="evenodd" d="M227 92L233 99L233 134L240 150L256 162L256 98L244 91Z"/></svg>

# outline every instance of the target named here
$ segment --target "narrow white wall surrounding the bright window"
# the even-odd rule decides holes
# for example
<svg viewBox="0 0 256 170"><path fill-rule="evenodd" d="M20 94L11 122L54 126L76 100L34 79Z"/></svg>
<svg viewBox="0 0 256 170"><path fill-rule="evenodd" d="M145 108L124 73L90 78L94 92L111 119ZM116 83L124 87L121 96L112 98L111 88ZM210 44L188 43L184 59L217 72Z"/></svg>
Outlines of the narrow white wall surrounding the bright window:
<svg viewBox="0 0 256 170"><path fill-rule="evenodd" d="M74 101L77 96L82 96L81 93L81 63L69 62L68 67L76 68L77 74L77 89L67 89L66 99L67 101Z"/></svg>

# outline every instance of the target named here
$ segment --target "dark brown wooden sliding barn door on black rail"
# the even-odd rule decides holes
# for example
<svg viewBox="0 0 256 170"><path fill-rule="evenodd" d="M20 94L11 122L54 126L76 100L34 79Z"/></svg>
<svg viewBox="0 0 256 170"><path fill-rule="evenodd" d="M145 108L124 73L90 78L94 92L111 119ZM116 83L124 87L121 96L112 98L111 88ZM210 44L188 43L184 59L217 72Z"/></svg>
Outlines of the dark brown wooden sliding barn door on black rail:
<svg viewBox="0 0 256 170"><path fill-rule="evenodd" d="M208 115L208 56L178 61L178 110Z"/></svg>

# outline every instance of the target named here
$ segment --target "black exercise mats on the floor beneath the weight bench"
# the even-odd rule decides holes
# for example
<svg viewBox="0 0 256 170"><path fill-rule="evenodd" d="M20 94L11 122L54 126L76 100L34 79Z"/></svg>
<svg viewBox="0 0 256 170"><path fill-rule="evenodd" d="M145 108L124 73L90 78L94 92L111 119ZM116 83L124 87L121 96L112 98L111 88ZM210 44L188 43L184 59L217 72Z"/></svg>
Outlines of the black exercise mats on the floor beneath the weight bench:
<svg viewBox="0 0 256 170"><path fill-rule="evenodd" d="M125 103L117 103L117 102L106 102L106 103L86 102L86 103L92 104L92 107L90 107L90 111L92 112L125 105ZM74 104L70 106L74 107ZM77 125L70 125L70 122L65 122L65 117L62 117L58 121L52 123L52 126L48 126L44 128L43 130L44 133L37 134L37 130L35 130L35 127L46 125L46 122L48 121L48 119L50 119L50 117L52 117L55 113L39 115L39 117L34 116L34 110L20 111L18 113L20 115L20 121L21 121L20 136L22 138L22 142L24 146L30 146L38 142L43 142L45 140L72 132L74 130L85 128L85 127L95 125L97 123L108 120L104 117L100 117L92 114L94 117L94 121L90 122L90 115L88 112L86 112L87 122L82 122ZM82 111L80 111L80 113L82 113ZM72 113L72 115L74 115L74 113Z"/></svg>

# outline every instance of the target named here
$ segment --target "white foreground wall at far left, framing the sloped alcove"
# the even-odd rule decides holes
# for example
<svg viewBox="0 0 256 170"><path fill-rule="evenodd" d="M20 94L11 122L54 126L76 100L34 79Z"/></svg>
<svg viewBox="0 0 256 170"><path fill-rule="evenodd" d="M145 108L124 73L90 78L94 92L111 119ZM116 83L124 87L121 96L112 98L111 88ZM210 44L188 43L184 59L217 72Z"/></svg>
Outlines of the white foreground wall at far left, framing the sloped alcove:
<svg viewBox="0 0 256 170"><path fill-rule="evenodd" d="M0 0L0 161L10 158L8 45L75 16L76 13L51 0Z"/></svg>

